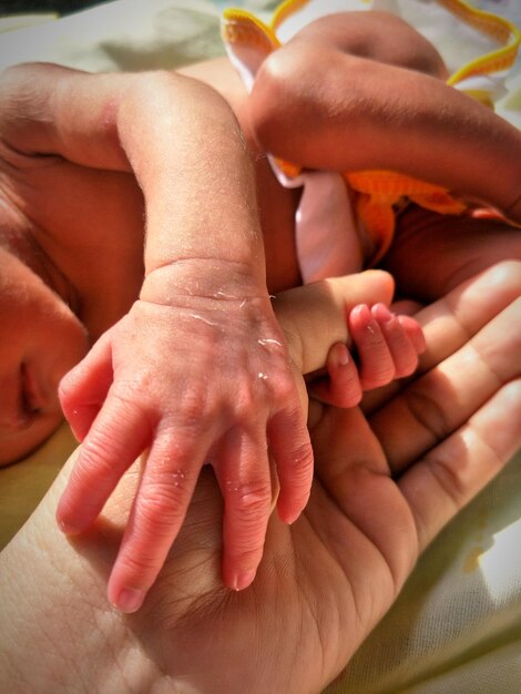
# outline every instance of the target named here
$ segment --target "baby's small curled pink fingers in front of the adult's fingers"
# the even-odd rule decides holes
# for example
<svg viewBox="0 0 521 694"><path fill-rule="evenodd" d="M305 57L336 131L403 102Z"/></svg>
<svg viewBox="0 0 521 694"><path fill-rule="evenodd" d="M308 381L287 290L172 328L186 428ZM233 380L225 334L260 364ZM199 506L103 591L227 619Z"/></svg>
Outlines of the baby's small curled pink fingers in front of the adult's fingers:
<svg viewBox="0 0 521 694"><path fill-rule="evenodd" d="M365 390L410 376L426 347L420 325L384 304L355 306L348 327L356 356L344 343L336 343L327 356L328 377L309 385L311 396L336 407L355 407Z"/></svg>

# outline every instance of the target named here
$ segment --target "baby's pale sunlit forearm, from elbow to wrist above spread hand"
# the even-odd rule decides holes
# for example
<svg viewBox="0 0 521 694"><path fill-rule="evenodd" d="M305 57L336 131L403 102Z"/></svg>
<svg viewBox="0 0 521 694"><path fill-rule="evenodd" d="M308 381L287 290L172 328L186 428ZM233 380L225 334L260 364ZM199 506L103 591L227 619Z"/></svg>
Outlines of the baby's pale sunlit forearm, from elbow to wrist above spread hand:
<svg viewBox="0 0 521 694"><path fill-rule="evenodd" d="M145 195L145 273L174 264L178 282L203 294L233 293L235 276L264 284L251 155L224 99L160 73L121 102L118 130Z"/></svg>

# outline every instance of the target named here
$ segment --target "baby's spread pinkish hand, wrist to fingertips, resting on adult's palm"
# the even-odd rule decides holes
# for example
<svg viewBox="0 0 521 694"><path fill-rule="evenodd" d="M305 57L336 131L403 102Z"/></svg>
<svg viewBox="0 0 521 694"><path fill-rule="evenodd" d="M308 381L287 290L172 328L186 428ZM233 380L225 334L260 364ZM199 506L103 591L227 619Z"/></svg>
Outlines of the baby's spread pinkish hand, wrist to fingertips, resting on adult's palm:
<svg viewBox="0 0 521 694"><path fill-rule="evenodd" d="M89 528L149 449L109 582L114 605L140 608L206 462L224 497L224 581L236 590L253 581L273 506L270 463L282 520L294 521L309 496L313 450L297 386L267 294L139 300L65 377L62 406L83 441L58 509L65 532Z"/></svg>

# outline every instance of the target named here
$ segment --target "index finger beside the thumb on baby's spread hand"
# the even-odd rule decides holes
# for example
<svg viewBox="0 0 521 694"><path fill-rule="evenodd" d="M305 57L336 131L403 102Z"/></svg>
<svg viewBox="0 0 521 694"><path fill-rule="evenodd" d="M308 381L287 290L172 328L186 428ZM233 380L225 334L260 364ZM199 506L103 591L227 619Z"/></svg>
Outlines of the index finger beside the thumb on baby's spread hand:
<svg viewBox="0 0 521 694"><path fill-rule="evenodd" d="M57 511L64 532L82 532L96 519L124 471L147 447L149 420L132 404L109 396L82 443Z"/></svg>

